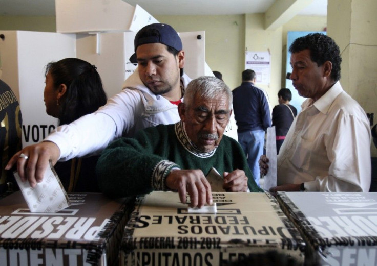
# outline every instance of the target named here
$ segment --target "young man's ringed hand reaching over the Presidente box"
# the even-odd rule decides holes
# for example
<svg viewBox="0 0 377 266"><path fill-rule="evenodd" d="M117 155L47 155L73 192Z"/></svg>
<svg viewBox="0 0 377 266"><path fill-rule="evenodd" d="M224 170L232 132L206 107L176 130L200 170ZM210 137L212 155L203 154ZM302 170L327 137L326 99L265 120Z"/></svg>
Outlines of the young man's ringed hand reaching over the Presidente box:
<svg viewBox="0 0 377 266"><path fill-rule="evenodd" d="M23 154L23 157L20 157ZM25 156L27 159L25 158ZM17 173L23 182L29 181L31 187L43 180L45 171L49 167L49 160L55 165L60 155L60 149L55 143L44 141L35 145L25 147L17 152L5 166L10 170L17 163Z"/></svg>

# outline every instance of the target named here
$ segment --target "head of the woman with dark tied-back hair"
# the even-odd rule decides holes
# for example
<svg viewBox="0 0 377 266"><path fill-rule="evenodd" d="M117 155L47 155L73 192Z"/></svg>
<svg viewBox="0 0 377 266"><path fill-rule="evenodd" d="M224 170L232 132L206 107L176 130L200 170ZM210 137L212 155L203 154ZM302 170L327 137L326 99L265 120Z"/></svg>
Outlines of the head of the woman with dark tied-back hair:
<svg viewBox="0 0 377 266"><path fill-rule="evenodd" d="M47 64L46 112L59 118L59 125L69 124L106 104L106 93L96 69L78 58Z"/></svg>

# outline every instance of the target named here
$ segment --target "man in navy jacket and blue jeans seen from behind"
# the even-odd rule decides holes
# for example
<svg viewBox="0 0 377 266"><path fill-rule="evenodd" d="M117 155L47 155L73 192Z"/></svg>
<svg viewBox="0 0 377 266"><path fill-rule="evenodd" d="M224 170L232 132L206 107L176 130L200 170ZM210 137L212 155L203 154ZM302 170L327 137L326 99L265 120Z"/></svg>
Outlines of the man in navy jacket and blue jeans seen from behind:
<svg viewBox="0 0 377 266"><path fill-rule="evenodd" d="M263 154L264 135L271 126L269 105L264 92L254 86L255 72L242 71L242 84L233 92L233 110L237 124L238 142L247 155L247 162L259 185L258 160Z"/></svg>

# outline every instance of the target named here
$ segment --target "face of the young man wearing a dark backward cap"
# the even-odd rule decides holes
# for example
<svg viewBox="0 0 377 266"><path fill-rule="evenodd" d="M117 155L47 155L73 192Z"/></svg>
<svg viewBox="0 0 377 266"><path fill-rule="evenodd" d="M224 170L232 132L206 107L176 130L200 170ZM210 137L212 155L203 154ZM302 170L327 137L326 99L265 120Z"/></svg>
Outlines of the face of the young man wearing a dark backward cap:
<svg viewBox="0 0 377 266"><path fill-rule="evenodd" d="M136 58L140 79L154 94L169 96L173 89L179 89L183 51L174 56L166 45L148 43L137 47Z"/></svg>

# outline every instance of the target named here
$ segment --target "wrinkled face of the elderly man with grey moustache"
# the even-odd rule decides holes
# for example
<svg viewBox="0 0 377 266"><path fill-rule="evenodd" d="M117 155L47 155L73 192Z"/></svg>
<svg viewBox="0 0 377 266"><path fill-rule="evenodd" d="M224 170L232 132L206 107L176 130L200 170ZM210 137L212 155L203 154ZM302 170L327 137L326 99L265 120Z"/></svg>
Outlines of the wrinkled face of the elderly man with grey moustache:
<svg viewBox="0 0 377 266"><path fill-rule="evenodd" d="M202 152L210 152L219 145L232 112L226 95L211 100L195 95L190 106L182 103L178 111L187 136Z"/></svg>

